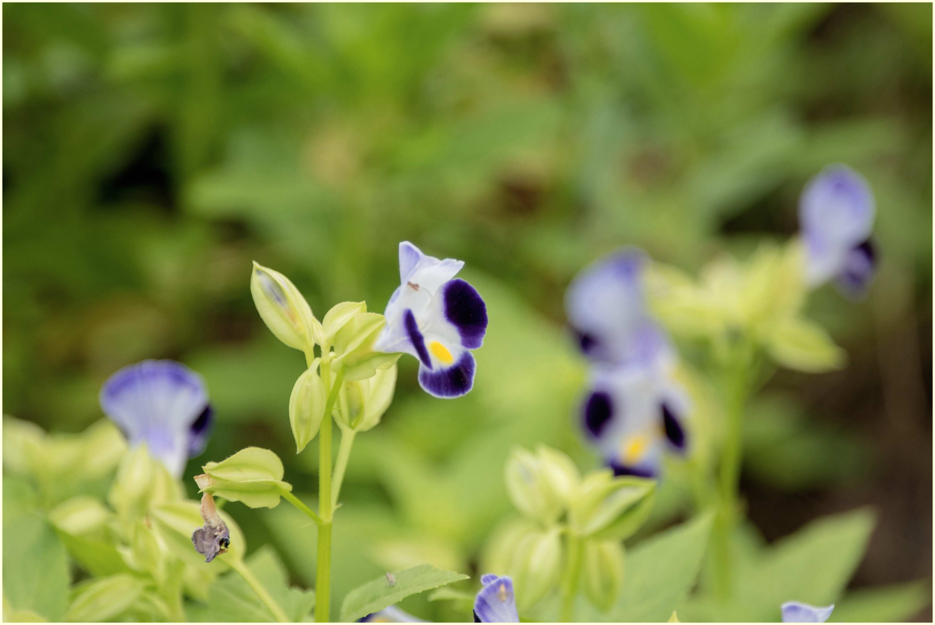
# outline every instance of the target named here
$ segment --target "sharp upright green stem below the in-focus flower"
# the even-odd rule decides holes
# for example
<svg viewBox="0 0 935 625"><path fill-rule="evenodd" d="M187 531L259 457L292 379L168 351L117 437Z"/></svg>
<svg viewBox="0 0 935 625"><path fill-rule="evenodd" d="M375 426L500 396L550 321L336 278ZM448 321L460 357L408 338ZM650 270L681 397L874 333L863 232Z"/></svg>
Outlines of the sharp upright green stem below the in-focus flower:
<svg viewBox="0 0 935 625"><path fill-rule="evenodd" d="M328 357L324 357L328 356ZM331 384L331 361L329 355L322 358L322 380L331 385L328 400L324 404L322 426L318 432L318 512L322 524L318 526L318 565L315 574L315 622L330 621L331 603L331 519L334 503L331 501L331 411L338 400L338 391L344 382L344 371L338 371Z"/></svg>

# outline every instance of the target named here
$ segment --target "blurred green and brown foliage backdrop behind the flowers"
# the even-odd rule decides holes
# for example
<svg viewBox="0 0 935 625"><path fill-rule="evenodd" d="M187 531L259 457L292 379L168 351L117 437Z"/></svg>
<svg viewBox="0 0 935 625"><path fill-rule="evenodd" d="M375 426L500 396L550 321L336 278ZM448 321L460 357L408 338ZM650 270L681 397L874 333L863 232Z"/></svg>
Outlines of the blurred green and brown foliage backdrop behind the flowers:
<svg viewBox="0 0 935 625"><path fill-rule="evenodd" d="M186 477L257 444L310 497L315 452L295 456L287 417L304 363L255 312L251 261L319 316L381 312L411 240L467 261L490 330L462 400L400 362L354 448L335 593L410 562L469 571L511 508L511 444L597 461L573 427L575 272L627 243L694 273L784 239L804 182L840 161L876 194L881 270L864 302L811 298L850 364L770 383L744 496L768 540L873 504L852 586L930 576L931 11L4 5L4 411L78 431L113 371L180 359L218 417ZM655 527L686 503L672 476ZM228 506L251 551L276 546L310 585L314 531L286 508Z"/></svg>

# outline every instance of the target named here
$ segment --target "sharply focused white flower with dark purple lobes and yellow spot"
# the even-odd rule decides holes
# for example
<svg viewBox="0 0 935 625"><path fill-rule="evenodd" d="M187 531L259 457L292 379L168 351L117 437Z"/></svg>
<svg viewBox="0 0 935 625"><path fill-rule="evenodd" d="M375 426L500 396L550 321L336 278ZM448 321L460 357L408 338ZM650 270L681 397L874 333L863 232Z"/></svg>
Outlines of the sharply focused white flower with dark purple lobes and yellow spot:
<svg viewBox="0 0 935 625"><path fill-rule="evenodd" d="M483 343L487 307L473 286L454 278L464 261L426 256L399 244L400 285L386 305L386 326L374 351L419 359L419 384L439 398L460 397L474 385L472 349Z"/></svg>

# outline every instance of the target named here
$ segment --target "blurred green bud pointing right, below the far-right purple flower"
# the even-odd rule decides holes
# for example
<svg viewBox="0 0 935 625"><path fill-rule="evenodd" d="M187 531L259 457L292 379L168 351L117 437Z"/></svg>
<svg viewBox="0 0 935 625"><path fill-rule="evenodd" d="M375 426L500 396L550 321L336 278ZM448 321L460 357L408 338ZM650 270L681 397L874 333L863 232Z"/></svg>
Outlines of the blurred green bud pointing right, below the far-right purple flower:
<svg viewBox="0 0 935 625"><path fill-rule="evenodd" d="M767 350L776 362L808 373L841 369L844 351L834 344L825 328L800 317L787 317L766 338Z"/></svg>

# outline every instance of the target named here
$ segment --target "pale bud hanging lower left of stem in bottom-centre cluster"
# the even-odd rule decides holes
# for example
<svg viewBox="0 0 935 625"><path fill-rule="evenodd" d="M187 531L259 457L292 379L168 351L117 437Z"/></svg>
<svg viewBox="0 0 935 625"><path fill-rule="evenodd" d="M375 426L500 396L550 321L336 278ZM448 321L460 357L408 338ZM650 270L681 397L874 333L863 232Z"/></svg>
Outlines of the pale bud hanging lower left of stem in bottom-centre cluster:
<svg viewBox="0 0 935 625"><path fill-rule="evenodd" d="M516 592L516 607L525 611L558 585L561 573L561 529L530 531L513 551L510 576Z"/></svg>

